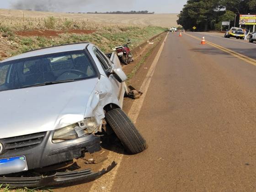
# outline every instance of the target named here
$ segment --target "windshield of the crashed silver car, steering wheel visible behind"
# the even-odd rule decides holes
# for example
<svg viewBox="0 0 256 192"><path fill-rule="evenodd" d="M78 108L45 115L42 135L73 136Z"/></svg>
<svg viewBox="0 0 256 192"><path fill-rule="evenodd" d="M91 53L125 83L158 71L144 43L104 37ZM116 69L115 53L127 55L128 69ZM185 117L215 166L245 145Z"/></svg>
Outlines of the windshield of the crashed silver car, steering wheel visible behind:
<svg viewBox="0 0 256 192"><path fill-rule="evenodd" d="M85 51L71 51L0 63L0 91L96 77Z"/></svg>

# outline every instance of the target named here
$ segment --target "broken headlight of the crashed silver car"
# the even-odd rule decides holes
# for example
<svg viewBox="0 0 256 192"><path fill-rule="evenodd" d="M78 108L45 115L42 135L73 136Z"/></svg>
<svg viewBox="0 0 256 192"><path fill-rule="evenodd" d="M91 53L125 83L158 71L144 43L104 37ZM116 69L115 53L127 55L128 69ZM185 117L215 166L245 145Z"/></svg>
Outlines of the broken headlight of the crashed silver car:
<svg viewBox="0 0 256 192"><path fill-rule="evenodd" d="M57 129L53 134L53 143L59 143L71 139L77 139L99 129L95 117L85 118L83 121Z"/></svg>

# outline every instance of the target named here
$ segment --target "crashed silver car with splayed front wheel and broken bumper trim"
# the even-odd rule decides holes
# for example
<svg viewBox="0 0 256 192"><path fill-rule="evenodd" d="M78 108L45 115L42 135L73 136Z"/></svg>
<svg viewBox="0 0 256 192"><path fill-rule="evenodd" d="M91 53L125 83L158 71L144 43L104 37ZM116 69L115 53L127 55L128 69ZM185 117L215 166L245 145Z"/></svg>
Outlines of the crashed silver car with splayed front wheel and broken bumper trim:
<svg viewBox="0 0 256 192"><path fill-rule="evenodd" d="M123 112L120 61L79 43L30 51L0 62L0 186L54 186L110 171L58 172L101 151L113 133L131 154L146 141ZM48 170L46 172L45 170Z"/></svg>

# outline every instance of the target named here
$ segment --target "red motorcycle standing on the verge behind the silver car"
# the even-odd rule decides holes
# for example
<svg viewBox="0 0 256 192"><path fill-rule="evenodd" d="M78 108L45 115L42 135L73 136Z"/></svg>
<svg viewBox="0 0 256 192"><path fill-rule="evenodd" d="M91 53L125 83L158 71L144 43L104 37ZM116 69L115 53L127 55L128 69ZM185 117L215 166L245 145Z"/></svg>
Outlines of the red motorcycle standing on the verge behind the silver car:
<svg viewBox="0 0 256 192"><path fill-rule="evenodd" d="M123 46L115 47L113 50L117 52L117 56L121 63L124 65L129 64L130 62L134 61L133 54L130 51L129 44L131 44L130 39L128 39L128 43L124 44Z"/></svg>

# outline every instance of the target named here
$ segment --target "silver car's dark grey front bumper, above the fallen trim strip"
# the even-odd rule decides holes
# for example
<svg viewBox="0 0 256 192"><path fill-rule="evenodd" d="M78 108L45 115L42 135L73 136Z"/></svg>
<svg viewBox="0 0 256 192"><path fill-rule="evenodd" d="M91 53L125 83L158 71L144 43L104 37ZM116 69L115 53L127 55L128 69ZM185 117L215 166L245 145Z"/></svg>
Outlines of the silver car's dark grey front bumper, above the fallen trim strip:
<svg viewBox="0 0 256 192"><path fill-rule="evenodd" d="M99 136L90 134L74 140L53 143L53 134L54 131L45 132L41 143L35 146L6 150L6 152L0 155L0 159L25 157L28 170L33 170L80 158L82 152L92 154L101 151ZM11 140L15 139L11 138ZM5 139L0 139L0 141L4 144L8 142ZM9 173L15 173L13 167L10 166L10 172L8 172L8 169L9 167L5 167L5 172L0 170L0 175L6 176Z"/></svg>

